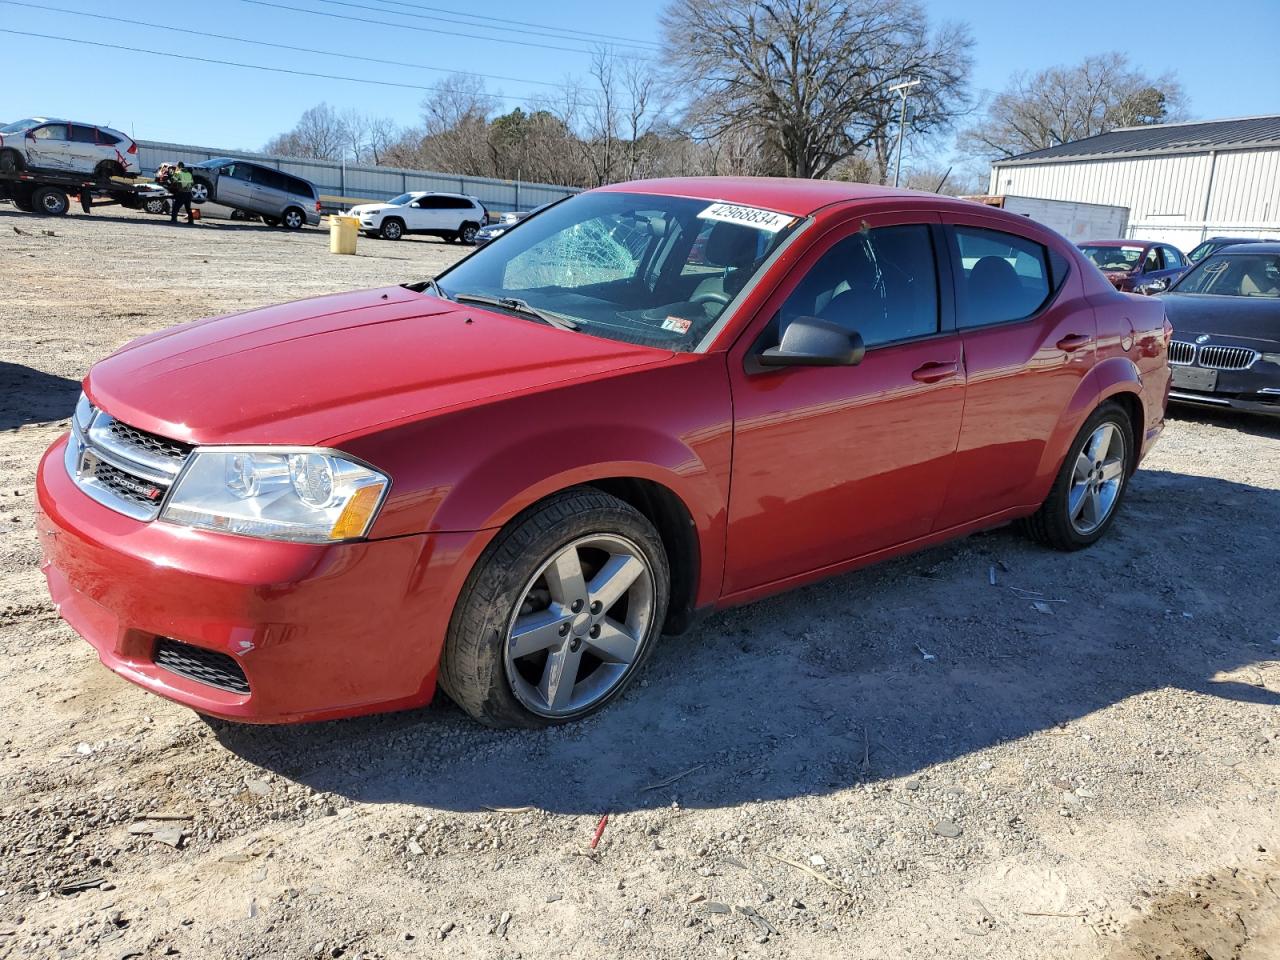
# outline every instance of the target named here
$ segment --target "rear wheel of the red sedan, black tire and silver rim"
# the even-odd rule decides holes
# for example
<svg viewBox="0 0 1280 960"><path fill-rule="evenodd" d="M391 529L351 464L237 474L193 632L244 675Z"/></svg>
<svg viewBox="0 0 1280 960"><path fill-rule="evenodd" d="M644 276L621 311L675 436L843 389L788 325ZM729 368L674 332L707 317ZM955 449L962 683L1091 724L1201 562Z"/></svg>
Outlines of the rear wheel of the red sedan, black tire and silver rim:
<svg viewBox="0 0 1280 960"><path fill-rule="evenodd" d="M1129 415L1103 403L1075 435L1044 503L1021 521L1024 532L1057 550L1091 547L1115 521L1135 466Z"/></svg>

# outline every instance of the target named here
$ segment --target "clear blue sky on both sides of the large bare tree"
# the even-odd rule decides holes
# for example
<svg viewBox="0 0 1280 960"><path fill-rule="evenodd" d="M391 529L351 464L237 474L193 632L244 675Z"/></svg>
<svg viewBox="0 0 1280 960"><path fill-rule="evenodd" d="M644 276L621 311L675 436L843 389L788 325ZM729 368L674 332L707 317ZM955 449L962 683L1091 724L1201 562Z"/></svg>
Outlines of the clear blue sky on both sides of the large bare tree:
<svg viewBox="0 0 1280 960"><path fill-rule="evenodd" d="M530 81L563 81L585 74L588 52L518 46L503 40L588 49L590 40L535 36L515 20L608 33L637 41L658 40L654 0L614 4L600 0L177 0L156 5L102 0L0 0L0 44L5 77L0 120L60 115L110 124L143 140L255 148L291 127L319 101L344 110L388 115L401 123L417 118L426 91L365 86L191 63L142 52L82 46L5 31L56 35L192 56L239 60L298 70L430 86L448 70L471 69ZM963 19L977 37L974 86L998 90L1020 69L1069 63L1107 50L1125 50L1152 73L1174 70L1190 95L1198 118L1280 111L1275 74L1277 0L1225 0L1230 17L1206 15L1203 0L1164 0L1160 15L1125 14L1115 3L1029 4L1025 0L925 0L934 20ZM100 17L164 23L236 37L316 50L349 50L439 70L378 65L340 55L307 55L251 46L155 27L92 19L49 8ZM294 8L294 9L282 9ZM416 14L411 8L420 9ZM300 9L392 20L404 27L308 15ZM1135 8L1134 8L1135 9ZM1216 8L1219 10L1222 6ZM399 13L393 13L393 12ZM1030 12L1030 13L1029 13ZM492 17L483 28L475 15ZM436 18L472 20L472 26ZM508 26L502 26L502 23ZM1253 24L1256 29L1242 29ZM412 29L416 27L417 29ZM488 40L435 31L483 35ZM443 70L443 72L442 72ZM547 87L526 81L489 81L490 92L525 97ZM515 105L516 101L506 101Z"/></svg>

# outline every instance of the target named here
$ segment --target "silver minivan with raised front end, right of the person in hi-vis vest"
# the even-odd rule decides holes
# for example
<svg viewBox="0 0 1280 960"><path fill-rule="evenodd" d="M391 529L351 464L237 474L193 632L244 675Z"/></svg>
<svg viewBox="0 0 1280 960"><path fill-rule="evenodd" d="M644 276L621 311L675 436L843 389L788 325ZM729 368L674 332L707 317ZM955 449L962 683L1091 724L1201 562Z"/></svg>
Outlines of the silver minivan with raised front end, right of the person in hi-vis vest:
<svg viewBox="0 0 1280 960"><path fill-rule="evenodd" d="M192 165L191 175L191 200L196 204L221 204L257 214L268 227L291 230L320 223L315 184L274 166L220 156Z"/></svg>

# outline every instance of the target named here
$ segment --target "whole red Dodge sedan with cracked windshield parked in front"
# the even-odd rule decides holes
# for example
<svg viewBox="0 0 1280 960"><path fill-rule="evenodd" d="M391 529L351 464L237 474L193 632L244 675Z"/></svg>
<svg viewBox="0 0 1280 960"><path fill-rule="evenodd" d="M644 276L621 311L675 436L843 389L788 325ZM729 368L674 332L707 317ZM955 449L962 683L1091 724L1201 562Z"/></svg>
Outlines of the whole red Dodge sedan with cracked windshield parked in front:
<svg viewBox="0 0 1280 960"><path fill-rule="evenodd" d="M1162 428L1169 334L1000 210L605 187L436 280L97 364L40 468L44 568L108 667L202 713L439 684L568 721L709 611L1014 520L1088 547Z"/></svg>

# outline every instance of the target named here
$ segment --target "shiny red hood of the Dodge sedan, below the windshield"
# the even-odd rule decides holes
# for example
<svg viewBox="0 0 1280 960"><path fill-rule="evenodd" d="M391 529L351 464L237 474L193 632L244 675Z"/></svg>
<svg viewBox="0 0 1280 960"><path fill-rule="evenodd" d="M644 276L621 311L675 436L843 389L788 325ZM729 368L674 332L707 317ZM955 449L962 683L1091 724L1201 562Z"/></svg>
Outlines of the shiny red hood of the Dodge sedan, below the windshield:
<svg viewBox="0 0 1280 960"><path fill-rule="evenodd" d="M84 387L116 419L187 443L323 444L672 356L389 287L163 330Z"/></svg>

